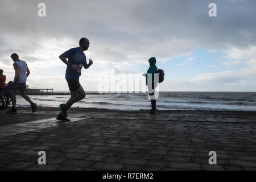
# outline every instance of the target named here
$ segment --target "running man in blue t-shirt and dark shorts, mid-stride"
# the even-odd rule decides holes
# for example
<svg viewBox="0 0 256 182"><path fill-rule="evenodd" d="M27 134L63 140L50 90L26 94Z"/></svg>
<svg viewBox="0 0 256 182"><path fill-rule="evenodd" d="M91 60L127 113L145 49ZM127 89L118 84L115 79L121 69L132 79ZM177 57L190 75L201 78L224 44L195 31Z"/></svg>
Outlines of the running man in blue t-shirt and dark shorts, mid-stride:
<svg viewBox="0 0 256 182"><path fill-rule="evenodd" d="M89 63L86 62L86 56L84 51L89 47L89 40L86 38L81 38L79 40L79 47L71 48L59 56L63 63L67 64L65 78L68 82L68 88L71 92L71 98L66 104L60 105L61 113L57 116L58 120L69 121L67 119L67 110L76 102L85 98L85 92L79 83L79 77L81 76L81 69L89 68L93 61L89 59ZM68 60L67 60L68 59Z"/></svg>

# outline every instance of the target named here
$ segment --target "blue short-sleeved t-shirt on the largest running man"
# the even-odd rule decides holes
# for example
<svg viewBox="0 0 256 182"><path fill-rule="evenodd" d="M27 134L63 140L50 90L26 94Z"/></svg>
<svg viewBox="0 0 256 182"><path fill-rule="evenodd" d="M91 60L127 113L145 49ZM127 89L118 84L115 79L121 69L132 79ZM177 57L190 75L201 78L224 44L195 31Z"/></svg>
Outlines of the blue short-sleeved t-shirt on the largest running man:
<svg viewBox="0 0 256 182"><path fill-rule="evenodd" d="M71 48L68 51L64 52L61 56L68 59L68 63L76 64L78 67L80 64L87 65L86 62L86 56L84 52L82 52L79 47ZM66 69L66 79L75 78L79 80L79 77L81 76L81 70L80 72L73 71L70 67L67 67Z"/></svg>

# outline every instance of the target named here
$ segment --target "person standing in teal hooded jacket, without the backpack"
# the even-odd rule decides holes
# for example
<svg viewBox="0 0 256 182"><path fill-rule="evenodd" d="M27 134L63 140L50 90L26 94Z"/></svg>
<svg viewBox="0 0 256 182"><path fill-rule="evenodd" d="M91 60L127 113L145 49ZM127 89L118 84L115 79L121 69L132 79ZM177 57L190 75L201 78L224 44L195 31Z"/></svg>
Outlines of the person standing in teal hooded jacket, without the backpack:
<svg viewBox="0 0 256 182"><path fill-rule="evenodd" d="M150 67L147 70L146 74L143 74L142 76L146 76L146 85L148 88L148 94L151 101L151 110L150 114L154 113L156 110L156 99L155 99L155 88L158 86L158 82L155 79L155 73L158 71L156 68L156 59L155 57L151 57L148 60L148 63L150 64ZM151 81L150 81L151 80Z"/></svg>

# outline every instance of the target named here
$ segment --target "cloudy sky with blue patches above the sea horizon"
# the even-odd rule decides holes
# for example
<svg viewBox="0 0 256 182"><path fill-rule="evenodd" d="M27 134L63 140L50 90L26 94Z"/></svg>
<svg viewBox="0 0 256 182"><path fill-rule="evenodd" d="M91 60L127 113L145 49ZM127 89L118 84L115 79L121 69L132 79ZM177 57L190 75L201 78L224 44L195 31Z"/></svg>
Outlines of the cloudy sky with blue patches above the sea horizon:
<svg viewBox="0 0 256 182"><path fill-rule="evenodd" d="M208 15L211 2L217 17ZM256 92L255 7L254 0L0 0L0 68L13 80L16 52L30 68L27 85L68 90L59 55L86 37L94 64L82 70L85 90L103 78L143 80L154 56L166 74L159 90Z"/></svg>

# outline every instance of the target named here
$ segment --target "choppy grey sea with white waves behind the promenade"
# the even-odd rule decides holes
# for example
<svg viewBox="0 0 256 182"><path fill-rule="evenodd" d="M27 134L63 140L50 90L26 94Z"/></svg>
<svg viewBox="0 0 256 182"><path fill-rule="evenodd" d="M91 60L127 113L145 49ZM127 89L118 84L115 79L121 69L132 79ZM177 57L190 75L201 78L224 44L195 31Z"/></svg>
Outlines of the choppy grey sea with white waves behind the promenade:
<svg viewBox="0 0 256 182"><path fill-rule="evenodd" d="M86 92L86 97L72 107L118 110L145 110L151 108L147 93L99 94ZM69 95L31 95L38 107L59 107ZM17 96L17 106L29 107ZM159 110L232 110L256 111L256 92L159 92L156 100Z"/></svg>

